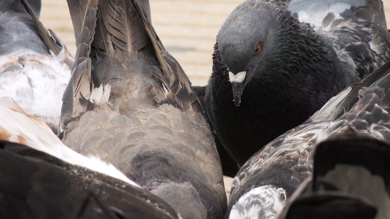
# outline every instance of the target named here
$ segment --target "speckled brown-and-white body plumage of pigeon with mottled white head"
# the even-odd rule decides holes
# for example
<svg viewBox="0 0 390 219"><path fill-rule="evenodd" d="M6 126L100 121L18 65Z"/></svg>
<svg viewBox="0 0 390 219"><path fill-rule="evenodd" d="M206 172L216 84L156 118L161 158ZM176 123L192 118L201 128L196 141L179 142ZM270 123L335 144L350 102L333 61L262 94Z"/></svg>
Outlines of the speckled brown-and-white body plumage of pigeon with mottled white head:
<svg viewBox="0 0 390 219"><path fill-rule="evenodd" d="M338 104L346 106L346 113L334 118L332 113L324 112L333 109L325 106L319 112L328 117L323 116L319 120L317 117L321 113L317 113L304 124L271 141L251 157L233 180L225 217L229 217L230 209L238 199L254 187L272 185L284 189L287 197L291 196L298 185L312 175L313 149L321 141L353 130L358 134L390 142L389 67L390 63L387 62L371 75L378 80L371 87L364 86L367 81L373 80L368 77L367 81L364 79L361 83L351 85L350 88L353 89L346 88L346 92L340 92L327 103L335 101L335 108ZM355 92L358 85L360 90ZM353 107L348 108L352 105Z"/></svg>

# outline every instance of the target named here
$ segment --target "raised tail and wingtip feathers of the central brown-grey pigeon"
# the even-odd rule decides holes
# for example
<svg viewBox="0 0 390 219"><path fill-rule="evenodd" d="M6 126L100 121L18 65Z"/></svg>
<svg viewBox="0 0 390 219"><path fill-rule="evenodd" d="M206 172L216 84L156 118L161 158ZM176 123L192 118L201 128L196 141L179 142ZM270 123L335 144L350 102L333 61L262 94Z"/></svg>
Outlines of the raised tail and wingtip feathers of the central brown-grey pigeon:
<svg viewBox="0 0 390 219"><path fill-rule="evenodd" d="M90 102L94 88L91 79L101 78L91 74L102 73L101 71L91 73L91 65L104 60L105 57L115 58L114 54L117 52L133 54L138 60L158 66L152 67L154 68L152 71L161 82L160 86L154 86L160 104L169 103L180 109L187 109L193 105L196 111L203 112L197 95L191 88L190 80L179 63L165 51L151 26L144 10L144 6L149 5L148 1L131 0L130 3L131 5L126 4L124 0L103 1L99 3L96 11L94 8L96 4L91 4L91 1L76 4L68 2L72 21L77 24L74 27L75 32L80 32L80 35L76 36L78 41L76 60L71 80L62 99L59 133L64 131L64 127L72 118L80 116L89 108L89 104L86 103ZM82 7L81 14L72 12L79 10L80 5L90 8ZM80 22L83 24L80 25ZM95 83L96 86L98 84Z"/></svg>

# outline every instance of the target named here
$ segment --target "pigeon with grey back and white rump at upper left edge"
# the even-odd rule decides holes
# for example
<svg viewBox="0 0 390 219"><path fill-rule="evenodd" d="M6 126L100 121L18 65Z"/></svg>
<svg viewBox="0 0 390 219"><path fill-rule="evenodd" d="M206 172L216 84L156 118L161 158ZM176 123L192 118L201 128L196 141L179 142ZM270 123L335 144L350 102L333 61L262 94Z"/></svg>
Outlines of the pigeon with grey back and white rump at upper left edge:
<svg viewBox="0 0 390 219"><path fill-rule="evenodd" d="M0 2L0 98L13 99L57 133L74 60L38 21L40 11L40 0Z"/></svg>

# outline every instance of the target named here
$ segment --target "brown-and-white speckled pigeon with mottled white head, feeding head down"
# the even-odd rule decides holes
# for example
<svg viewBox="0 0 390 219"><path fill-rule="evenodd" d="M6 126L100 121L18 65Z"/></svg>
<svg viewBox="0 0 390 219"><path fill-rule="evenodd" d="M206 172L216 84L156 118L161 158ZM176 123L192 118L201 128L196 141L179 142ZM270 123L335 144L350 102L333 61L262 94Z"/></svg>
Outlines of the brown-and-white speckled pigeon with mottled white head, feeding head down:
<svg viewBox="0 0 390 219"><path fill-rule="evenodd" d="M389 72L390 61L251 157L233 179L225 218L276 218L286 199L313 174L316 145L332 136L353 131L390 143Z"/></svg>

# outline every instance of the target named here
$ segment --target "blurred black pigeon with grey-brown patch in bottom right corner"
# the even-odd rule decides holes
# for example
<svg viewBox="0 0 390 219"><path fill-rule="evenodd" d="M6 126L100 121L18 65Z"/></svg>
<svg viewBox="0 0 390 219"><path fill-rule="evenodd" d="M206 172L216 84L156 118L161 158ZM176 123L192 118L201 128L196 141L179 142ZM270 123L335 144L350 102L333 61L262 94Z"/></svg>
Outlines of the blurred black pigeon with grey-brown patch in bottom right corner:
<svg viewBox="0 0 390 219"><path fill-rule="evenodd" d="M390 145L349 131L317 145L313 176L291 196L279 219L390 217Z"/></svg>

